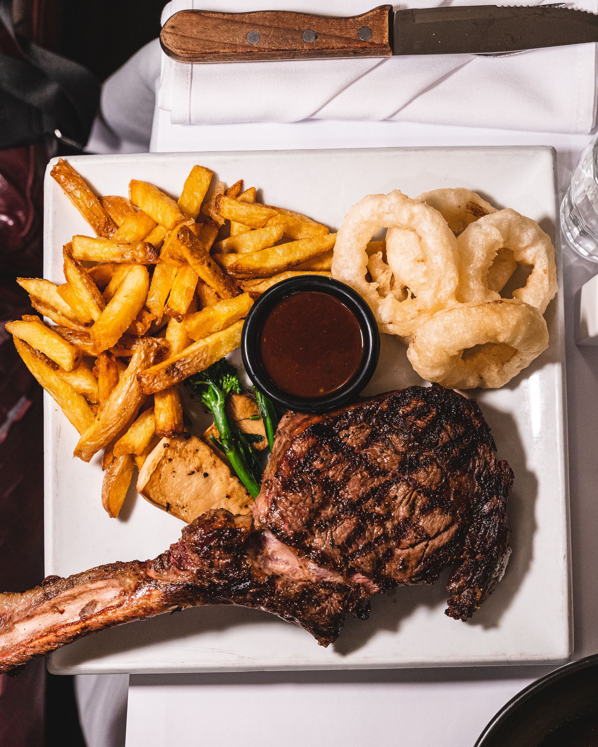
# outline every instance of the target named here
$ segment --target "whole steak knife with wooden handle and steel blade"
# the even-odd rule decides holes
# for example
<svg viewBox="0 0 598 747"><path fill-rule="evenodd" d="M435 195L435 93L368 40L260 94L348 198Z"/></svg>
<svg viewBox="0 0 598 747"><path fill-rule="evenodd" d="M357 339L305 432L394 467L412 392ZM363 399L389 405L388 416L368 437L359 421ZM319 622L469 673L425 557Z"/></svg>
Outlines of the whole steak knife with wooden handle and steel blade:
<svg viewBox="0 0 598 747"><path fill-rule="evenodd" d="M421 10L380 5L360 16L340 18L286 10L180 10L160 34L164 52L186 63L496 55L596 41L598 15L564 4Z"/></svg>

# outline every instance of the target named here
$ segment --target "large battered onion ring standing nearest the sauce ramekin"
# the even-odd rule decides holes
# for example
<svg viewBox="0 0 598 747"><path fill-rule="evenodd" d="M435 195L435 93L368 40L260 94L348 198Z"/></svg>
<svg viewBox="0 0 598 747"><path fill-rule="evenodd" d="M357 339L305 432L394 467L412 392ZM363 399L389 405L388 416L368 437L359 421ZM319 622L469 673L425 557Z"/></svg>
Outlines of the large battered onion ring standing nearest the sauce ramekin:
<svg viewBox="0 0 598 747"><path fill-rule="evenodd" d="M419 237L428 268L428 279L417 297L404 296L400 282L380 297L376 282L366 280L366 246L377 229L412 229ZM388 255L388 238L386 253ZM380 329L411 338L422 318L456 303L457 241L442 215L428 205L394 190L389 194L370 194L357 202L336 235L332 274L351 285L369 304Z"/></svg>

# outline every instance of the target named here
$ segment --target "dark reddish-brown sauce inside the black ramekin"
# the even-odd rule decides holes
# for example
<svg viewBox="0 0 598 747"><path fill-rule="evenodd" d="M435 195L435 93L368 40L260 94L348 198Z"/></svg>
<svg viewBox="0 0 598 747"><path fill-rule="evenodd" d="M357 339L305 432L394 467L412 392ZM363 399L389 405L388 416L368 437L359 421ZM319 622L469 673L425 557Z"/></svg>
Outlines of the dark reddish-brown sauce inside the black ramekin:
<svg viewBox="0 0 598 747"><path fill-rule="evenodd" d="M353 311L334 296L300 291L265 318L259 355L286 394L315 399L347 384L360 368L363 335Z"/></svg>

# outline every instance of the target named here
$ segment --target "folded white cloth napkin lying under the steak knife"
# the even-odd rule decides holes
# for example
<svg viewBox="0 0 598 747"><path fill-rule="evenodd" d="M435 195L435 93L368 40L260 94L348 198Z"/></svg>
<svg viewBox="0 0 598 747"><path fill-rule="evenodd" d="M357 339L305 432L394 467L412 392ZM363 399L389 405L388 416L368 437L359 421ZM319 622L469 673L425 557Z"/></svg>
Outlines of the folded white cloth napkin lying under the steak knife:
<svg viewBox="0 0 598 747"><path fill-rule="evenodd" d="M454 4L484 2L496 4L496 0ZM582 2L577 7L597 12L598 0ZM172 0L164 7L162 23L188 8L351 16L376 4L372 0L325 4L321 0ZM408 7L437 4L453 3L407 0ZM596 68L596 44L504 58L429 55L207 65L174 62L162 53L158 106L171 112L173 124L400 120L585 133L594 126Z"/></svg>

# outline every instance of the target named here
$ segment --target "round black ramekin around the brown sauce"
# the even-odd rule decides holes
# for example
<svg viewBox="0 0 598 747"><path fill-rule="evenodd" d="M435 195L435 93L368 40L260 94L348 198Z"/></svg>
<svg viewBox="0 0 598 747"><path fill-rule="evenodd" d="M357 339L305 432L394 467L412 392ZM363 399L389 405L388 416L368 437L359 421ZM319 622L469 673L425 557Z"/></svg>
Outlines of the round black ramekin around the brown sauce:
<svg viewBox="0 0 598 747"><path fill-rule="evenodd" d="M302 291L327 293L344 303L356 317L363 336L363 356L357 373L331 394L313 399L293 397L278 387L268 376L259 355L259 335L271 309L283 298ZM380 332L372 310L353 288L321 275L301 275L273 285L256 300L243 325L241 355L252 382L280 406L295 412L327 412L354 400L372 378L380 357Z"/></svg>

